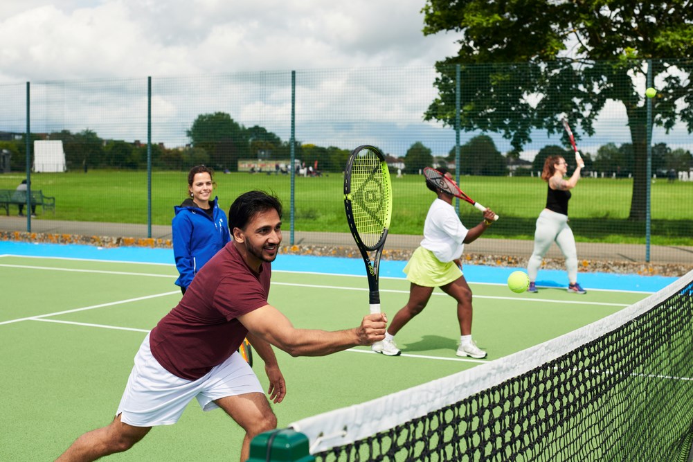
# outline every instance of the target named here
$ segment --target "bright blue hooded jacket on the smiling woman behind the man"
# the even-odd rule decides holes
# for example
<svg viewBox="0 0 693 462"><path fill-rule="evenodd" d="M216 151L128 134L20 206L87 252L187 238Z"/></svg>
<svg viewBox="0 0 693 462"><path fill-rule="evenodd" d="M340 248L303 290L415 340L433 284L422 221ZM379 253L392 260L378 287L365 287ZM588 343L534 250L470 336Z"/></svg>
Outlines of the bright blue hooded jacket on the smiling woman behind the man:
<svg viewBox="0 0 693 462"><path fill-rule="evenodd" d="M209 204L213 207L213 218L191 199L173 207L173 255L180 273L175 284L185 289L193 282L202 265L231 241L229 223L226 214L217 205L217 198Z"/></svg>

